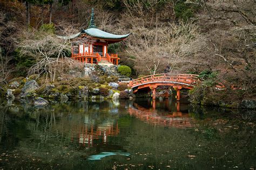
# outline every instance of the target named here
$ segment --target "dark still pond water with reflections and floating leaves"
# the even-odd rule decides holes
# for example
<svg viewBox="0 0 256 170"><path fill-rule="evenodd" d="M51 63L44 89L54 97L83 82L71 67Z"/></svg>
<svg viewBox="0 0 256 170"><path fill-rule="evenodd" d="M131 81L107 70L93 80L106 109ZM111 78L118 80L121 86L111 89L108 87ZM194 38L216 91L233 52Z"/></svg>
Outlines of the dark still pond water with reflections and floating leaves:
<svg viewBox="0 0 256 170"><path fill-rule="evenodd" d="M1 169L255 169L256 113L174 100L0 106Z"/></svg>

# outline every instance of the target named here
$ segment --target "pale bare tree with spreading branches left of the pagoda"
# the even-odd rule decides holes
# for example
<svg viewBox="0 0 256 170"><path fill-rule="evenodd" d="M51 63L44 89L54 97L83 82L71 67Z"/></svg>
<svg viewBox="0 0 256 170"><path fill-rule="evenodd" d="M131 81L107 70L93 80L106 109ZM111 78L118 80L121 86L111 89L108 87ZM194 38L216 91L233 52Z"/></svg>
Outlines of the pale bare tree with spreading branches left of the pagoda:
<svg viewBox="0 0 256 170"><path fill-rule="evenodd" d="M65 33L72 34L75 29L65 28ZM72 33L71 33L72 32ZM71 50L71 39L60 39L54 34L41 32L25 32L25 39L18 44L21 48L21 54L33 56L36 59L35 65L29 70L29 75L38 74L46 75L46 82L48 78L51 82L56 80L58 73L64 73L66 68L80 67L82 63L71 59L69 56ZM86 39L76 39L77 43Z"/></svg>

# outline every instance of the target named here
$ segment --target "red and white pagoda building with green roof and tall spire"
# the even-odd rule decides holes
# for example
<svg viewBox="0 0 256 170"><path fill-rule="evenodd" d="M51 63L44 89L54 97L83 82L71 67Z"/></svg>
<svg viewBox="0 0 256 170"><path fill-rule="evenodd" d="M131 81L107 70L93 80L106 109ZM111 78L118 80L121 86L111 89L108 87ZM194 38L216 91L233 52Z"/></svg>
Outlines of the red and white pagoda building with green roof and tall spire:
<svg viewBox="0 0 256 170"><path fill-rule="evenodd" d="M94 10L92 9L90 25L86 30L75 34L71 38L84 38L84 43L72 44L71 58L83 63L118 65L118 54L107 53L107 46L124 40L130 34L117 35L97 29L94 23ZM83 41L82 41L83 42Z"/></svg>

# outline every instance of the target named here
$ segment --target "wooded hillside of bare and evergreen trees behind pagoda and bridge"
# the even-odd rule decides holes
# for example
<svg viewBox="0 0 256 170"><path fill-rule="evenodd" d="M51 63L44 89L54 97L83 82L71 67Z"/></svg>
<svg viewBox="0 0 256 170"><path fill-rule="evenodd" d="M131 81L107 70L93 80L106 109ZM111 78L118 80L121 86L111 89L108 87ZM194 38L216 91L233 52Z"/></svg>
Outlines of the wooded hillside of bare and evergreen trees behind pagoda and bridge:
<svg viewBox="0 0 256 170"><path fill-rule="evenodd" d="M70 44L56 35L86 29L94 8L99 29L132 33L125 41L109 46L109 52L118 53L120 64L130 66L134 77L166 70L199 74L204 83L191 91L194 103L255 99L254 3L0 0L0 83L38 70L49 73L51 80L55 76L68 79L65 72L82 66L69 60ZM56 58L62 60L56 62ZM61 72L56 68L62 68ZM216 90L217 83L223 83L226 90Z"/></svg>

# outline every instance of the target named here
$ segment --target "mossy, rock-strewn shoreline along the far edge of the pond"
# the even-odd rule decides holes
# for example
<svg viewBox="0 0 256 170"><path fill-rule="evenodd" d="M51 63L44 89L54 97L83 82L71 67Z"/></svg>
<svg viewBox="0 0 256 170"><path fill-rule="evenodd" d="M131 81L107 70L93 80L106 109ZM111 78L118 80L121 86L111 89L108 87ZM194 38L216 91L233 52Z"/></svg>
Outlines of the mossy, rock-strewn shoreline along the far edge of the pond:
<svg viewBox="0 0 256 170"><path fill-rule="evenodd" d="M79 83L80 82L81 80L79 80ZM133 98L151 97L150 92L133 94L132 89L129 89L127 84L118 84L116 82L105 84L88 83L85 86L75 87L73 87L71 84L68 86L56 84L39 86L37 81L29 78L13 81L9 85L1 87L0 94L6 100L22 100L23 102L25 101L27 103L40 106L47 105L49 101L66 102L69 100L132 100ZM173 93L170 94L173 95ZM207 96L204 97L204 102L202 102L199 100L199 98L193 96L193 94L188 95L188 100L193 104L221 108L256 110L256 100L241 100L225 103L222 100L205 100L205 98L207 98Z"/></svg>

